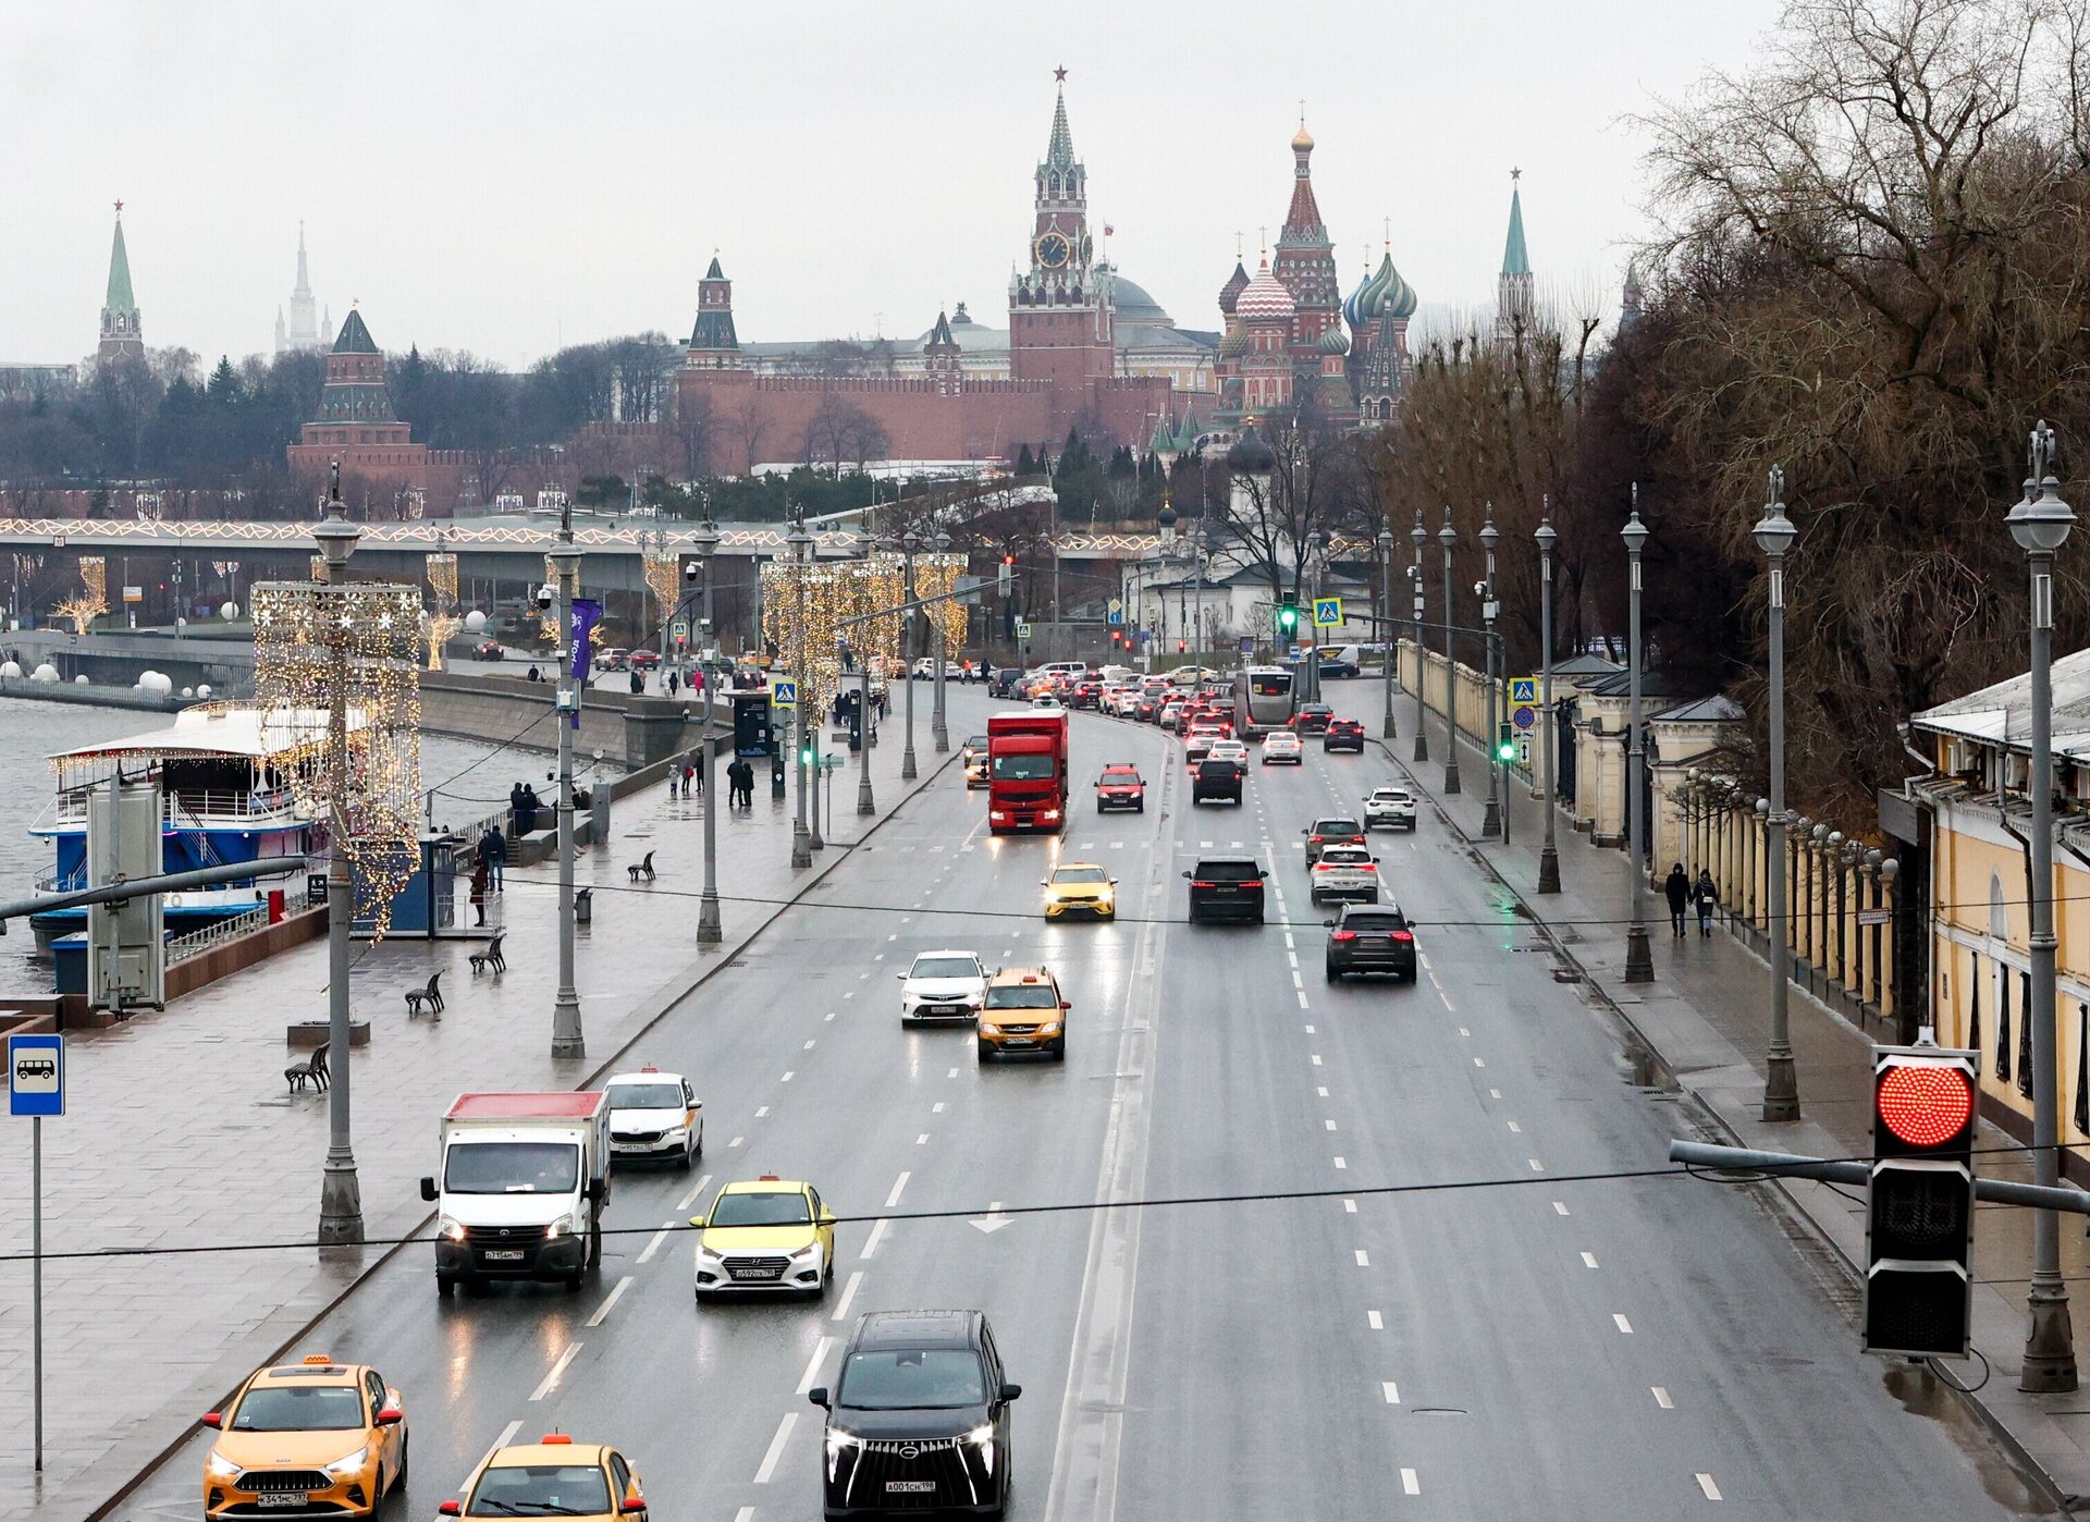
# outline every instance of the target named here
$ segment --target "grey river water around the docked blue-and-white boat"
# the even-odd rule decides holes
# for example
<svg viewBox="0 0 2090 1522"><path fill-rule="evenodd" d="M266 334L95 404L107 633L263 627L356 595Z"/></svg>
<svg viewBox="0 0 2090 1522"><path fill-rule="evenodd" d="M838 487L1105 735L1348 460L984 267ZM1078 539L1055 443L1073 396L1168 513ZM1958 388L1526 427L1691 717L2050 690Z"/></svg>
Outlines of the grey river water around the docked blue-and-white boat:
<svg viewBox="0 0 2090 1522"><path fill-rule="evenodd" d="M48 840L29 834L52 801L48 757L100 740L150 734L173 723L173 715L134 709L94 709L73 702L0 698L0 901L27 897L36 880L50 872ZM504 751L497 740L420 738L422 790L435 790L435 822L464 828L508 803L508 788L529 782L545 799L552 757L543 751ZM585 774L585 763L575 774ZM50 966L36 962L36 937L25 920L13 920L0 939L0 995L50 993Z"/></svg>

